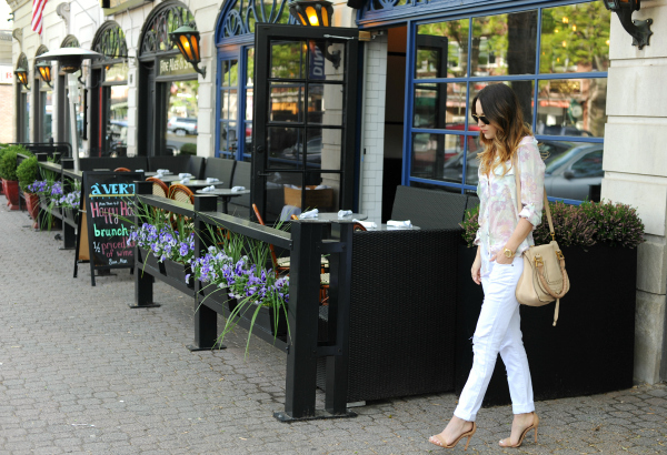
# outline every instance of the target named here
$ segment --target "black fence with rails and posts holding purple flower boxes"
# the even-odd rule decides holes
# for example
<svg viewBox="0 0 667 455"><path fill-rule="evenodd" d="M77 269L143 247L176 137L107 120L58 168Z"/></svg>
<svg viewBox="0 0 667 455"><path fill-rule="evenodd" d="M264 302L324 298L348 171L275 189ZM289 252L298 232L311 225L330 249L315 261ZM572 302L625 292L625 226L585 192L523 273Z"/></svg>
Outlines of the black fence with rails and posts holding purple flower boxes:
<svg viewBox="0 0 667 455"><path fill-rule="evenodd" d="M137 182L137 202L191 218L195 221L196 254L208 247L207 226L215 230L222 228L289 251L289 335L276 340L258 332L260 337L287 352L285 411L275 413L275 416L283 422L354 416L347 411L352 225L336 223L331 229L325 222L299 221L291 224L290 232L286 232L217 212L216 196L196 196L193 205L185 204L151 195L151 182ZM330 264L329 321L327 340L318 343L322 254L329 255ZM138 249L135 257L140 257ZM196 309L192 348L215 348L217 315L221 313L229 317L229 309L203 299L200 282L190 290L185 283L176 283L143 263L137 264L137 271L136 306L156 305L152 293L156 279L190 293ZM321 357L326 357L325 408L316 410L317 367Z"/></svg>

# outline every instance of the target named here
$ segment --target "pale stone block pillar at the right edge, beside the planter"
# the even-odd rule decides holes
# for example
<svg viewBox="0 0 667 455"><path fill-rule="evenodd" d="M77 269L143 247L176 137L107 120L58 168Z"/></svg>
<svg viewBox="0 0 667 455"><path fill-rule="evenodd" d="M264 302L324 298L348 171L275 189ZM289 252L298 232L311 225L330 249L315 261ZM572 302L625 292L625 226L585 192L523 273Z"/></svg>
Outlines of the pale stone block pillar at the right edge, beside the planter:
<svg viewBox="0 0 667 455"><path fill-rule="evenodd" d="M643 50L611 16L601 196L636 206L646 226L638 249L635 380L654 384L667 377L667 1L641 7L634 19L654 20L650 46Z"/></svg>

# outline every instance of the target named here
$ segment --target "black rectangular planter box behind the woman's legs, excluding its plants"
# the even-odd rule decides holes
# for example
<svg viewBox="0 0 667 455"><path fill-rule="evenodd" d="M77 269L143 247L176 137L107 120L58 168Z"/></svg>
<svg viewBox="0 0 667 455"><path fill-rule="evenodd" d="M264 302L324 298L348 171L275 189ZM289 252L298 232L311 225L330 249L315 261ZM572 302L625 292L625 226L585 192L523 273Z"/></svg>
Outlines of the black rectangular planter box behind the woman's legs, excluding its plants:
<svg viewBox="0 0 667 455"><path fill-rule="evenodd" d="M459 251L456 393L472 366L472 335L484 300L470 279L476 250ZM597 244L564 247L571 287L554 304L521 305L521 332L535 400L554 400L630 388L635 350L637 250ZM511 403L500 356L482 405Z"/></svg>

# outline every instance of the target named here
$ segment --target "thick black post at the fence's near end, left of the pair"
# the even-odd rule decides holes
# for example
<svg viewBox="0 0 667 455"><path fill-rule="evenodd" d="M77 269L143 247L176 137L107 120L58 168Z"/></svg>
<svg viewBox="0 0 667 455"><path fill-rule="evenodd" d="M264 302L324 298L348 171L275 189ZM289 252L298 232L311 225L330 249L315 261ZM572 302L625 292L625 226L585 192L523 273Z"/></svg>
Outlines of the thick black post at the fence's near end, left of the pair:
<svg viewBox="0 0 667 455"><path fill-rule="evenodd" d="M285 414L290 419L315 416L317 321L319 317L322 229L317 222L293 222L290 255L290 344L287 354Z"/></svg>

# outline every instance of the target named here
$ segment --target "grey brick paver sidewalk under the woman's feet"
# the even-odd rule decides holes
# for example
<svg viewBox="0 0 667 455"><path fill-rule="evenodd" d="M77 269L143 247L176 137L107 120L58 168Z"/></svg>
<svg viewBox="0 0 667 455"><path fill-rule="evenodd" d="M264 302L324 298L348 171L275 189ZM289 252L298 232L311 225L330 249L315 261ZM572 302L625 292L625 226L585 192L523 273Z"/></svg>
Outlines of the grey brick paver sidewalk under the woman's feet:
<svg viewBox="0 0 667 455"><path fill-rule="evenodd" d="M4 202L0 198L0 202ZM26 213L0 209L0 454L411 454L454 394L369 403L349 419L283 424L285 354L239 330L220 352L189 352L192 301L156 285L159 309L130 310L128 271L90 286L73 253ZM437 358L434 358L437 362ZM468 453L667 452L667 388L538 403L539 442L501 449L511 408L481 410ZM456 449L462 452L462 444ZM447 453L444 451L442 453Z"/></svg>

